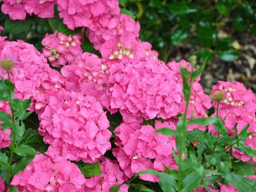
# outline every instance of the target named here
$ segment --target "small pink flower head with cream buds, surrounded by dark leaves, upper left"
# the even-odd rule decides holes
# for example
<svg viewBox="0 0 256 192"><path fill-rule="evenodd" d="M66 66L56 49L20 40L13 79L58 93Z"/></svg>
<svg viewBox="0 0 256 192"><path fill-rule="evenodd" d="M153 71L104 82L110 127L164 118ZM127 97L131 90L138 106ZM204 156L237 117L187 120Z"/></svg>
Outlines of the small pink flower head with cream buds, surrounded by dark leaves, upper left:
<svg viewBox="0 0 256 192"><path fill-rule="evenodd" d="M53 34L46 34L42 40L42 53L53 67L61 67L76 57L82 55L81 35L64 35L61 32L55 31Z"/></svg>

